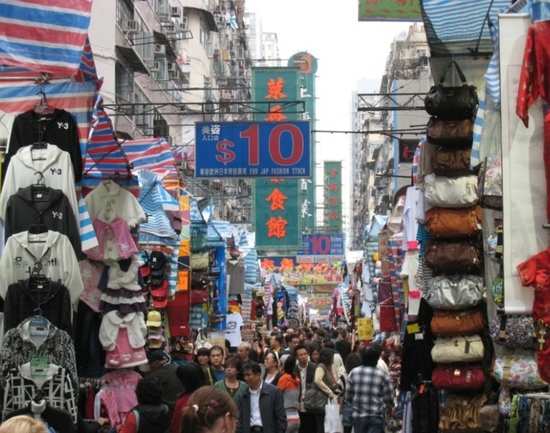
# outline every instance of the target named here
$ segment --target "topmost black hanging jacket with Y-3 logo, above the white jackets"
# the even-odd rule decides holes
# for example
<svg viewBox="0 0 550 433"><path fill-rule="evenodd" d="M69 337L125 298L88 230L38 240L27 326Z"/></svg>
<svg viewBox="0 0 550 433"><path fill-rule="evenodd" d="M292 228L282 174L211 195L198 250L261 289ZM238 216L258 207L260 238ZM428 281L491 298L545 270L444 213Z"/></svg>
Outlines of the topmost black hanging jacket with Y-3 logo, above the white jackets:
<svg viewBox="0 0 550 433"><path fill-rule="evenodd" d="M6 172L5 169L7 169L11 157L20 148L36 143L40 138L69 153L74 177L78 182L82 177L82 155L78 127L71 113L58 109L55 109L51 114L44 115L30 110L15 118L4 160L3 173Z"/></svg>

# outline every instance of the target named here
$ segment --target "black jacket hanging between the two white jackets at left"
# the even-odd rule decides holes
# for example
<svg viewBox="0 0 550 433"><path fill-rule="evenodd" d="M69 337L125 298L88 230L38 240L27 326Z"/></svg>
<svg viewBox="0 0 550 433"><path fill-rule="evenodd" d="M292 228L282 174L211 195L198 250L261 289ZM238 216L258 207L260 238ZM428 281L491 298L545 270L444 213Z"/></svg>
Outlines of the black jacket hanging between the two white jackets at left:
<svg viewBox="0 0 550 433"><path fill-rule="evenodd" d="M33 224L44 224L48 230L64 234L71 241L77 257L81 256L80 228L63 191L44 187L42 197L33 197L33 187L20 188L6 206L5 238L27 231Z"/></svg>

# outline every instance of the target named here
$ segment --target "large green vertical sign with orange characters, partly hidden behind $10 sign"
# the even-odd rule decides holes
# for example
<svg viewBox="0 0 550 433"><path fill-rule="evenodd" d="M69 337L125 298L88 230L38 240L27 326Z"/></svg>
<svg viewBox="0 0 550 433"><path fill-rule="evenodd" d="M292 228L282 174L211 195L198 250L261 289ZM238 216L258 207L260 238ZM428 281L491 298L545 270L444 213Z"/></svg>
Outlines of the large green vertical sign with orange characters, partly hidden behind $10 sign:
<svg viewBox="0 0 550 433"><path fill-rule="evenodd" d="M271 102L269 113L255 114L254 120L298 120L293 113L297 107L284 105L298 99L298 69L253 68L252 81L252 99ZM256 179L254 222L258 250L288 251L300 246L299 182L297 179Z"/></svg>

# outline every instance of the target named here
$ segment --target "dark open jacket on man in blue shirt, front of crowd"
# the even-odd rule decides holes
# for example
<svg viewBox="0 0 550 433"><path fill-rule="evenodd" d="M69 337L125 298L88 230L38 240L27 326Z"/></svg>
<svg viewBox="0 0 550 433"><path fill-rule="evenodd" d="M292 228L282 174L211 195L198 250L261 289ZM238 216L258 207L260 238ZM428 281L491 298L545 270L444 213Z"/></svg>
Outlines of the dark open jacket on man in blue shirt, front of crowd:
<svg viewBox="0 0 550 433"><path fill-rule="evenodd" d="M240 398L239 423L237 433L250 433L250 389ZM262 416L263 433L285 433L286 411L283 394L268 383L262 384L260 391L260 414Z"/></svg>

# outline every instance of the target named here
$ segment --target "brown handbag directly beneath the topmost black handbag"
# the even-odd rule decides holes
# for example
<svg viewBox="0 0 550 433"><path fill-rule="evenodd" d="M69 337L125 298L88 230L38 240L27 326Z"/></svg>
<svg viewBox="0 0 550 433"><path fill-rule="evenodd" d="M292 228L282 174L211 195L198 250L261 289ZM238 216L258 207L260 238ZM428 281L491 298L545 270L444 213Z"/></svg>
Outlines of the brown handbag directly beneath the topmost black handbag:
<svg viewBox="0 0 550 433"><path fill-rule="evenodd" d="M441 147L472 147L473 134L474 122L471 119L440 120L432 117L428 122L428 141Z"/></svg>

